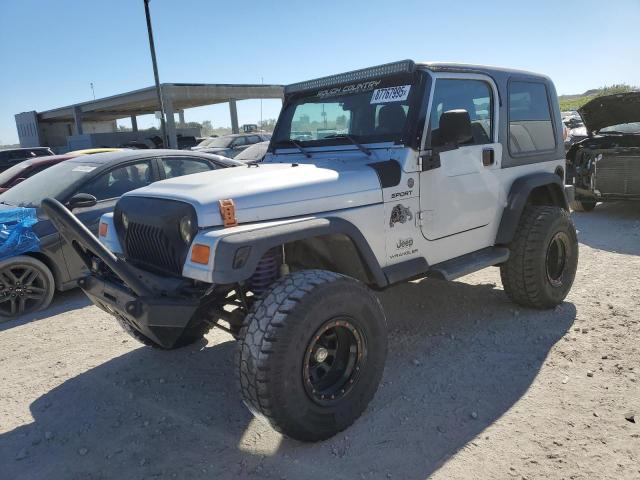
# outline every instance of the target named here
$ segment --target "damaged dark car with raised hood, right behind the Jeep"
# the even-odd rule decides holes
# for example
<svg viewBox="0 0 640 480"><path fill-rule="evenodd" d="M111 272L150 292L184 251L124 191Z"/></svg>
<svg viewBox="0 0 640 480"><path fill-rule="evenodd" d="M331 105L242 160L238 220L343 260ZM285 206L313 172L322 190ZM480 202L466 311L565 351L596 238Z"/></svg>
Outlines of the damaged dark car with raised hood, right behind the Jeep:
<svg viewBox="0 0 640 480"><path fill-rule="evenodd" d="M598 97L578 111L588 136L567 152L573 210L640 200L640 91Z"/></svg>

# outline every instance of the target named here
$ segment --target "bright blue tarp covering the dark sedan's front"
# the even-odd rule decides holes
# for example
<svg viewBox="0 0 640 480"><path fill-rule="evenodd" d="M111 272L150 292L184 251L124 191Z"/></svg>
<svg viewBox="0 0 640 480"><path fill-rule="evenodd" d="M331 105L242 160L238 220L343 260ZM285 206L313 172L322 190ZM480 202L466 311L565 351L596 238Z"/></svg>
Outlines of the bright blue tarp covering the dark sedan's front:
<svg viewBox="0 0 640 480"><path fill-rule="evenodd" d="M40 240L32 229L37 222L35 208L0 210L0 260L40 250Z"/></svg>

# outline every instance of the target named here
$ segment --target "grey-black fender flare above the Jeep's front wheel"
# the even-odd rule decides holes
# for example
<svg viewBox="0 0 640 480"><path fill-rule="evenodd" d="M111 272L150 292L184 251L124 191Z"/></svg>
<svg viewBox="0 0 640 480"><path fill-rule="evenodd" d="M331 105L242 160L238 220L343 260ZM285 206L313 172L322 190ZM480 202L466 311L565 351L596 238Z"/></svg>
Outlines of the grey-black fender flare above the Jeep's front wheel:
<svg viewBox="0 0 640 480"><path fill-rule="evenodd" d="M312 218L225 235L215 246L213 279L217 284L247 280L253 275L262 256L271 248L296 240L335 233L344 234L353 241L375 284L380 288L385 287L388 284L387 278L367 240L351 222L336 217ZM234 268L236 253L243 247L249 249L246 260L241 266L236 265Z"/></svg>

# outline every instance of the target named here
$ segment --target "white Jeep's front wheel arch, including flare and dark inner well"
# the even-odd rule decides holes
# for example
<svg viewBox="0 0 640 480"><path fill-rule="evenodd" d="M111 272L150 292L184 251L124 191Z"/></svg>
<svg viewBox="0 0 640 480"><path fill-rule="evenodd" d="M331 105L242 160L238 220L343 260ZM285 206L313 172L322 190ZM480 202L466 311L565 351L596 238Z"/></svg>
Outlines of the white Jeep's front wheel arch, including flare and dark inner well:
<svg viewBox="0 0 640 480"><path fill-rule="evenodd" d="M301 220L221 238L214 256L215 283L247 280L253 275L262 256L280 246L285 248L287 263L297 262L301 268L322 268L343 273L380 288L388 284L360 230L338 217ZM240 252L244 252L243 262L237 258Z"/></svg>

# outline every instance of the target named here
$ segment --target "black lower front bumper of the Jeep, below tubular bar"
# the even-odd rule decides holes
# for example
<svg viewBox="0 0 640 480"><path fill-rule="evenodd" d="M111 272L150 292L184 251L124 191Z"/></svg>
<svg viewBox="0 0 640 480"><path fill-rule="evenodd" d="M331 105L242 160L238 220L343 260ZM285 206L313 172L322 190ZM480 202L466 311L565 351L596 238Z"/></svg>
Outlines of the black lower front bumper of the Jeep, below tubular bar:
<svg viewBox="0 0 640 480"><path fill-rule="evenodd" d="M172 348L195 321L200 301L172 297L138 297L116 282L89 275L78 282L91 301L119 317L163 348Z"/></svg>

